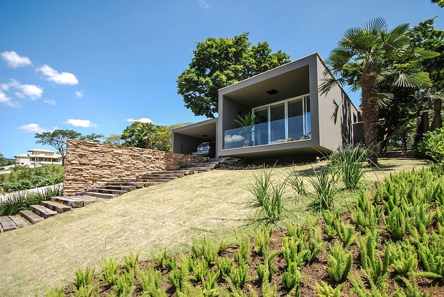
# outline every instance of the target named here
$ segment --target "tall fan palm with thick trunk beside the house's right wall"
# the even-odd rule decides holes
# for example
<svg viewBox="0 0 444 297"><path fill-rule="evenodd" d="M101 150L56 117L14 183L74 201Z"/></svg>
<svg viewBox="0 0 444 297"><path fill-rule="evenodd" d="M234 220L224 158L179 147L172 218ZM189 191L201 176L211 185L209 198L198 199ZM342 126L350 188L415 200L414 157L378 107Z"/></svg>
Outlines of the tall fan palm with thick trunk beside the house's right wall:
<svg viewBox="0 0 444 297"><path fill-rule="evenodd" d="M394 86L413 88L430 87L432 84L429 74L421 71L419 61L439 54L412 48L408 31L409 24L388 30L384 19L370 20L361 28L345 31L325 61L325 78L318 88L321 94L328 93L337 85L350 84L352 91L362 89L366 147L370 151L372 165L377 164L378 95L383 95L378 94L378 83L391 79Z"/></svg>

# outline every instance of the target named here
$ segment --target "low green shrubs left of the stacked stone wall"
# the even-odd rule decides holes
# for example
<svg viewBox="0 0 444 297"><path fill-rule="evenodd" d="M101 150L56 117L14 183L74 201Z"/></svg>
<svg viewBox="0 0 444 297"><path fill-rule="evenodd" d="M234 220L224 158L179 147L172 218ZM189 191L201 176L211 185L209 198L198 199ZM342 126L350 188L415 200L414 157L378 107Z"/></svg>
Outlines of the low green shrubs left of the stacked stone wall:
<svg viewBox="0 0 444 297"><path fill-rule="evenodd" d="M0 188L4 192L14 192L41 186L50 186L63 182L61 167L25 168L9 175L5 182L4 175L0 175Z"/></svg>

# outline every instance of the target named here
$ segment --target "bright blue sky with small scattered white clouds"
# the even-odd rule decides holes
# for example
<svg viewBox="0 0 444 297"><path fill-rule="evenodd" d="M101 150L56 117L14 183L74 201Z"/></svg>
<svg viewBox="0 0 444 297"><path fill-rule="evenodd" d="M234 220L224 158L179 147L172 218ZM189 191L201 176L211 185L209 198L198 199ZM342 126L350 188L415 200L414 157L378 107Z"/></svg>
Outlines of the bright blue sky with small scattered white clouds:
<svg viewBox="0 0 444 297"><path fill-rule="evenodd" d="M177 94L197 40L250 32L292 60L326 59L341 34L439 15L428 0L17 0L0 5L0 152L12 158L55 128L120 134L131 119L196 122ZM444 29L444 15L435 27ZM349 94L359 104L359 94Z"/></svg>

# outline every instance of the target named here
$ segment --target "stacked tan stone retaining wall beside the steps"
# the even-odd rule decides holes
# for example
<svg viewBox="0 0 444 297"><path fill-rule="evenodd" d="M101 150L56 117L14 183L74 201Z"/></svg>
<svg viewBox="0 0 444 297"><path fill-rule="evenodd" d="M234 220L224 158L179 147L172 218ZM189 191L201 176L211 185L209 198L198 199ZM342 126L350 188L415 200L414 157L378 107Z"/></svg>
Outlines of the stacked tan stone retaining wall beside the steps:
<svg viewBox="0 0 444 297"><path fill-rule="evenodd" d="M149 171L175 170L205 159L153 149L68 140L63 194L74 194L110 182L134 180Z"/></svg>

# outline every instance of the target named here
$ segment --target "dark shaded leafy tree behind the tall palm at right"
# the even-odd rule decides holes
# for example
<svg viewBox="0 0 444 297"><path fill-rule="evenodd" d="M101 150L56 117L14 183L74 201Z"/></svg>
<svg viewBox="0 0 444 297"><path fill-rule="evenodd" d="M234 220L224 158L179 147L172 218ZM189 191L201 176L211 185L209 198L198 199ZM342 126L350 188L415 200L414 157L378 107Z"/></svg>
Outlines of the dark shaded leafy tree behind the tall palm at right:
<svg viewBox="0 0 444 297"><path fill-rule="evenodd" d="M433 89L418 92L415 88L396 87L390 83L392 79L379 83L380 92L393 94L392 101L378 110L380 155L387 151L390 140L393 140L392 144L404 143L404 148L407 148L407 143L412 143L415 119L422 111L433 106L433 98L444 90L444 31L435 29L434 19L428 19L414 26L409 38L412 47L440 53L440 56L421 61L423 69L430 74Z"/></svg>

